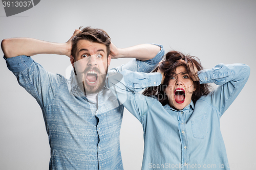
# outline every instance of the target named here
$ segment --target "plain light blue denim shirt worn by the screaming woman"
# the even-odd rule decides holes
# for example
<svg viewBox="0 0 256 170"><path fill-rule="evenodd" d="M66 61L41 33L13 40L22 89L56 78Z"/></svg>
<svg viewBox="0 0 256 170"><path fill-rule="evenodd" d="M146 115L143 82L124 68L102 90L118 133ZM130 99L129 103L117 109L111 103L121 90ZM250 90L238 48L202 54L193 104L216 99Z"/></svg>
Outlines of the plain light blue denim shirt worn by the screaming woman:
<svg viewBox="0 0 256 170"><path fill-rule="evenodd" d="M158 86L160 73L124 70L109 76L110 89L140 121L144 131L142 169L229 169L220 118L244 87L250 68L244 64L219 64L198 72L200 83L217 89L182 110L139 94Z"/></svg>

